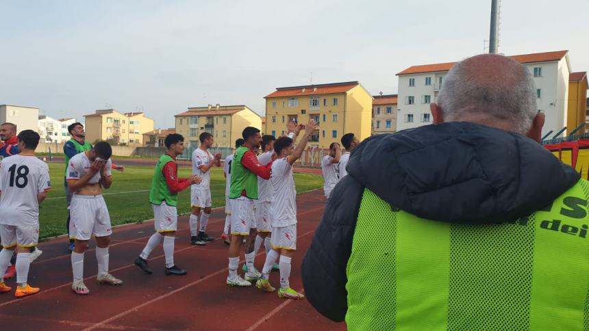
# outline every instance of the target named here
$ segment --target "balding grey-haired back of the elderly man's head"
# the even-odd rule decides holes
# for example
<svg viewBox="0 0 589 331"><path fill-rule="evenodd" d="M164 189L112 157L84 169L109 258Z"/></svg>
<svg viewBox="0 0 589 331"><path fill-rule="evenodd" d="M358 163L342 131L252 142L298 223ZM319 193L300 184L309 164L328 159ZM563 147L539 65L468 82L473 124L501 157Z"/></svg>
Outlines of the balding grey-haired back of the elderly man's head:
<svg viewBox="0 0 589 331"><path fill-rule="evenodd" d="M493 59L500 56L477 57ZM473 58L455 64L444 77L438 96L444 122L477 116L490 122L509 123L513 131L525 135L538 114L536 85L529 70L507 57L499 59L503 63L491 65L492 68L488 63L486 68L477 65L477 60L470 64L469 60Z"/></svg>

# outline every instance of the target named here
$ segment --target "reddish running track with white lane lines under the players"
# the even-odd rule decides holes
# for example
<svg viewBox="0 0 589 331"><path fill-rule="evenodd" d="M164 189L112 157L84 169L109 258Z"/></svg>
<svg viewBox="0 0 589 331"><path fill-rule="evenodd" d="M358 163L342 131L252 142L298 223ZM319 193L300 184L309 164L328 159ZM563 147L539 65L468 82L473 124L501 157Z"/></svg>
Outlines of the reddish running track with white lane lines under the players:
<svg viewBox="0 0 589 331"><path fill-rule="evenodd" d="M323 214L323 191L297 196L299 250L292 259L291 287L302 290L301 260ZM208 233L221 235L223 209L215 209ZM207 246L188 242L187 217L180 217L175 243L175 263L188 270L186 276L166 276L161 246L153 250L145 275L133 264L153 222L114 229L110 248L110 272L125 281L121 287L95 282L97 265L94 243L86 252L84 276L90 295L71 291L71 263L66 239L40 244L42 256L31 265L29 282L40 293L22 299L10 293L0 295L0 323L3 330L345 330L316 313L306 300L279 299L255 287L230 288L227 278L227 246L217 239ZM263 249L262 249L263 250ZM242 256L243 259L243 256ZM256 256L262 268L265 254ZM241 261L243 262L243 261ZM241 263L240 263L241 267ZM279 285L279 274L271 274ZM321 281L321 280L317 280Z"/></svg>

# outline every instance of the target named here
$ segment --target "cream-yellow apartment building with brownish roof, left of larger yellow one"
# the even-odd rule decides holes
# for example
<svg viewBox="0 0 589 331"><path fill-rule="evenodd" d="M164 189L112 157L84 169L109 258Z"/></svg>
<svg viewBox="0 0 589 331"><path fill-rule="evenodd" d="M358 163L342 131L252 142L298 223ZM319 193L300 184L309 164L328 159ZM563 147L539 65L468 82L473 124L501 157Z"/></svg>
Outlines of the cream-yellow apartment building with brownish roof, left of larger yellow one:
<svg viewBox="0 0 589 331"><path fill-rule="evenodd" d="M184 136L187 146L199 146L199 135L214 137L213 147L233 147L245 127L262 129L262 117L245 105L190 107L175 115L176 133Z"/></svg>

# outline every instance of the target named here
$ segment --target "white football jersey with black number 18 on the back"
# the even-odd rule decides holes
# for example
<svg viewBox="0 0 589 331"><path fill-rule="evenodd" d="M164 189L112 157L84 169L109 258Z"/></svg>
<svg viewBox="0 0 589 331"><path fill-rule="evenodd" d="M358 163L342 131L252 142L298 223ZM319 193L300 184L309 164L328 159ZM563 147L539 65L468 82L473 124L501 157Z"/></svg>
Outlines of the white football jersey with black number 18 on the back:
<svg viewBox="0 0 589 331"><path fill-rule="evenodd" d="M0 224L34 226L37 194L51 189L47 163L34 155L13 155L0 163Z"/></svg>

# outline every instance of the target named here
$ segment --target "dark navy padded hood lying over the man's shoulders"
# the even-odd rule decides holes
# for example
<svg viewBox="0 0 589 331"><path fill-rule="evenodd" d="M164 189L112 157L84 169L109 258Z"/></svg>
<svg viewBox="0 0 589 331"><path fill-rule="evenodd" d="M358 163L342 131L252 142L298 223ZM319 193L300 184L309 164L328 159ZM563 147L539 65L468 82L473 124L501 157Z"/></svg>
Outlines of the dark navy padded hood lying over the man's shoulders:
<svg viewBox="0 0 589 331"><path fill-rule="evenodd" d="M537 142L469 122L370 137L347 171L391 207L460 224L529 215L580 178Z"/></svg>

